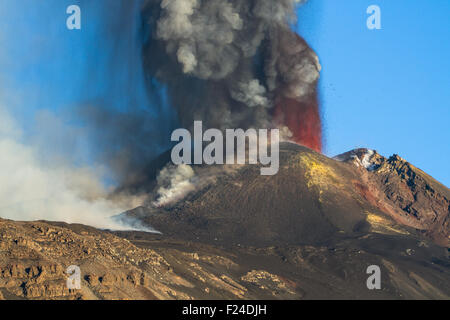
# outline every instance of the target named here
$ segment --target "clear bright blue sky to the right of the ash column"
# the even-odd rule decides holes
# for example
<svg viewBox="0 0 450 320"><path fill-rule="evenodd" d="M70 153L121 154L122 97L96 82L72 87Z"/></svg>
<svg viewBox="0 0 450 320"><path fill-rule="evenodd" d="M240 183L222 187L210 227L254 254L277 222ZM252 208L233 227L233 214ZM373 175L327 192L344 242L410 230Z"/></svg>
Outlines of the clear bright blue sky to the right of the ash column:
<svg viewBox="0 0 450 320"><path fill-rule="evenodd" d="M366 9L381 9L368 30ZM397 153L450 185L450 1L310 0L297 28L323 67L325 152Z"/></svg>

